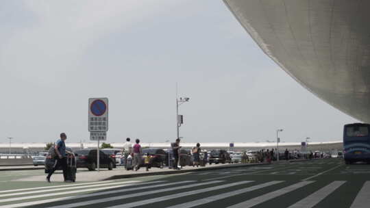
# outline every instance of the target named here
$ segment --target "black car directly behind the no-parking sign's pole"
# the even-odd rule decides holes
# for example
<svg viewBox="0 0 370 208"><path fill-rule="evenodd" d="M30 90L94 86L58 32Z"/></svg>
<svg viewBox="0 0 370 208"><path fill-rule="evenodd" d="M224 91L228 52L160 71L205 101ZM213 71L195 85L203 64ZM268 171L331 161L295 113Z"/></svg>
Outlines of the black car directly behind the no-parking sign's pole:
<svg viewBox="0 0 370 208"><path fill-rule="evenodd" d="M75 151L77 159L77 168L88 168L95 170L97 168L97 149L84 149ZM116 167L116 159L110 153L99 151L99 168L108 168L112 170Z"/></svg>

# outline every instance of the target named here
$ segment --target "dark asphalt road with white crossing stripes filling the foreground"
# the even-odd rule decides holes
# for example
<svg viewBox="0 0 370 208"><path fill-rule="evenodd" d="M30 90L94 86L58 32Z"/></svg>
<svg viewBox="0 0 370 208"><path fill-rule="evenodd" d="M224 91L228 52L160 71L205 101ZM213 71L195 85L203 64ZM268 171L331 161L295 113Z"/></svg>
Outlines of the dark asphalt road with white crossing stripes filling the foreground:
<svg viewBox="0 0 370 208"><path fill-rule="evenodd" d="M0 208L365 208L370 206L369 181L370 165L345 165L343 159L89 183L29 182L22 186L8 181L0 188Z"/></svg>

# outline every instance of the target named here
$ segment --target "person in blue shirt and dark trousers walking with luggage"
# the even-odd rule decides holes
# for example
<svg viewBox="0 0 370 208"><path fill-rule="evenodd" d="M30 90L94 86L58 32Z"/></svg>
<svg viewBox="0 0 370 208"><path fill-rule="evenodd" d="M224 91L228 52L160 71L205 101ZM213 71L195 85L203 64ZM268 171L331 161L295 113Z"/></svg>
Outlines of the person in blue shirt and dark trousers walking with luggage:
<svg viewBox="0 0 370 208"><path fill-rule="evenodd" d="M56 171L56 169L61 166L62 167L62 170L63 170L63 177L64 177L64 182L72 182L72 181L68 181L66 180L66 153L68 153L68 151L66 151L66 144L64 143L64 141L66 140L66 134L65 133L60 133L60 140L57 140L56 141L56 146L54 146L54 148L56 148L56 160L57 160L57 163L56 163L56 166L53 167L53 169L50 170L49 174L47 175L47 182L50 183L50 177L51 175L53 174L53 172Z"/></svg>

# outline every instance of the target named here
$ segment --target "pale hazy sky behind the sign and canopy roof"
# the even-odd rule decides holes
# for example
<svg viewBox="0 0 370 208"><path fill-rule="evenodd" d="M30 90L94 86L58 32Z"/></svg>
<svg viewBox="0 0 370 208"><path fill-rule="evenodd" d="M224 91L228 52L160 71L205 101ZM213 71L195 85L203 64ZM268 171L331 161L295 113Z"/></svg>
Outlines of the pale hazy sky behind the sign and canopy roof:
<svg viewBox="0 0 370 208"><path fill-rule="evenodd" d="M88 99L109 99L107 142L341 140L356 122L308 92L223 1L3 1L0 142L89 142Z"/></svg>

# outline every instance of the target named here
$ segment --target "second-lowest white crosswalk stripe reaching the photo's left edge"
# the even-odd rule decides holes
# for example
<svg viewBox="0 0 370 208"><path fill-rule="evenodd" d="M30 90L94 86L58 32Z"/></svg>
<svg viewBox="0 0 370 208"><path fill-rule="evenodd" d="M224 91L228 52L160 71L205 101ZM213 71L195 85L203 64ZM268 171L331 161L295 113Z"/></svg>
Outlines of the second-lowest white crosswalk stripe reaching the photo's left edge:
<svg viewBox="0 0 370 208"><path fill-rule="evenodd" d="M119 184L119 183L117 183ZM25 199L32 199L32 198L41 198L41 197L49 197L49 196L58 196L58 195L64 195L64 194L76 194L76 193L81 193L81 192L90 192L90 191L97 191L97 190L108 190L112 189L114 187L125 187L129 185L134 185L134 183L128 183L128 184L123 184L123 185L114 185L114 186L108 186L108 187L95 187L92 189L83 189L83 190L75 190L75 191L68 191L68 192L57 192L57 193L51 193L51 194L40 194L40 195L35 195L35 196L22 196L22 197L12 197L12 198L3 198L0 199L0 203L6 203L14 200L25 200Z"/></svg>

